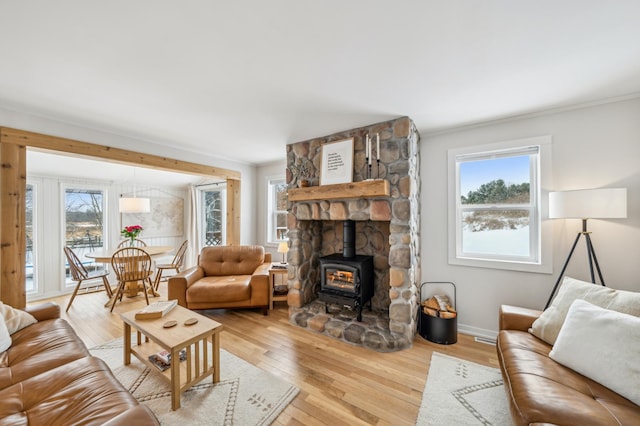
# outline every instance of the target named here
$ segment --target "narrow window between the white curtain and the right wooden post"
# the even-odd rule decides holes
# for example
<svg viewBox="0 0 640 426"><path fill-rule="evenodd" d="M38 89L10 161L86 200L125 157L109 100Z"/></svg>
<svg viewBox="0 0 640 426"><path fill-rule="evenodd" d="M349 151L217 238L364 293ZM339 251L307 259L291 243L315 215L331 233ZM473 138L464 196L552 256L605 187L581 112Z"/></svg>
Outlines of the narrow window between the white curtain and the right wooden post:
<svg viewBox="0 0 640 426"><path fill-rule="evenodd" d="M200 190L201 246L221 246L226 244L227 188L222 184L209 185Z"/></svg>

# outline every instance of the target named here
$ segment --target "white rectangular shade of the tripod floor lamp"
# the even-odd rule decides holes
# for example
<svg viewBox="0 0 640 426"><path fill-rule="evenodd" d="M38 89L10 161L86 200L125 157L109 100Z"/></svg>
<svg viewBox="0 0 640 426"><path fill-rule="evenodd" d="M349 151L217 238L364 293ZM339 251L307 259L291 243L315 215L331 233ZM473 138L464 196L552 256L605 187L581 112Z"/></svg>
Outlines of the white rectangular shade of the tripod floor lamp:
<svg viewBox="0 0 640 426"><path fill-rule="evenodd" d="M551 219L627 217L627 188L581 189L549 193Z"/></svg>

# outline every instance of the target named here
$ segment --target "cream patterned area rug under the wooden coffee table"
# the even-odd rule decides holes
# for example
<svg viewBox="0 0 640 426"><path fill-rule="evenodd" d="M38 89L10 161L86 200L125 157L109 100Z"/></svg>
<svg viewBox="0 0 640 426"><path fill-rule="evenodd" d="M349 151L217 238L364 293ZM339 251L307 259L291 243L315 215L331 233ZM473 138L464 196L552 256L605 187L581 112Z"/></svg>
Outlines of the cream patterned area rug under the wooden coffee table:
<svg viewBox="0 0 640 426"><path fill-rule="evenodd" d="M90 351L163 425L269 425L298 394L295 386L220 350L220 382L204 379L183 392L181 408L171 411L168 381L133 356L123 365L120 339Z"/></svg>

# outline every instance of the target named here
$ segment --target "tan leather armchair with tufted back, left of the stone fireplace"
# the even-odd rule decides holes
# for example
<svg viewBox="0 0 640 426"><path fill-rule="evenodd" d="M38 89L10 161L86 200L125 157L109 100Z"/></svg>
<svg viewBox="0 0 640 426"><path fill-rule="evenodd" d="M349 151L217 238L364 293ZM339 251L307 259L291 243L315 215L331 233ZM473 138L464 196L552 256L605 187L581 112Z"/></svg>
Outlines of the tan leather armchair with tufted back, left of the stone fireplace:
<svg viewBox="0 0 640 426"><path fill-rule="evenodd" d="M198 265L169 278L168 299L188 309L269 308L271 254L262 246L205 247Z"/></svg>

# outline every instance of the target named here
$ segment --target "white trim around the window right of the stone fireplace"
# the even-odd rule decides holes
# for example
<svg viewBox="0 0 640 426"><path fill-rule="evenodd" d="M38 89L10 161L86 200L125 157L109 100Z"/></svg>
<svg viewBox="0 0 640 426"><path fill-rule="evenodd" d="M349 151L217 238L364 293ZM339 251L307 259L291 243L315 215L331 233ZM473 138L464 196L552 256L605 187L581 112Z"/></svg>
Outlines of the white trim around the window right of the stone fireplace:
<svg viewBox="0 0 640 426"><path fill-rule="evenodd" d="M451 265L472 266L481 268L504 269L513 271L536 272L536 273L552 273L552 238L551 223L548 220L548 192L551 188L551 143L550 135L538 136L525 139L517 139L491 143L486 145L476 145L465 148L451 149L448 151L448 260ZM538 165L533 171L534 177L537 174L538 185L534 197L537 198L537 208L535 209L537 230L532 229L532 237L538 238L537 260L524 259L506 259L494 256L467 256L461 255L461 233L459 224L461 219L461 210L458 209L460 200L459 191L459 168L456 159L460 156L469 155L476 156L492 151L520 151L528 146L537 146ZM530 164L530 167L531 164ZM513 206L509 206L513 209ZM535 241L530 240L530 244Z"/></svg>

